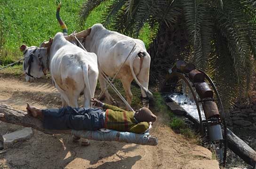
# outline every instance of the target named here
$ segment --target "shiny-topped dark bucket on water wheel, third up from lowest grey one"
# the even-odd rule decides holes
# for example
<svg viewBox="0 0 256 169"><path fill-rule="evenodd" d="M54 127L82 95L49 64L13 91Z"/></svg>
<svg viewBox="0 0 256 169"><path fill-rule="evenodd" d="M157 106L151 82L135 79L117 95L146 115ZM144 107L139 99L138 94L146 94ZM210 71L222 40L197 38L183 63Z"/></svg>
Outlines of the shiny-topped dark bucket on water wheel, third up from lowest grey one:
<svg viewBox="0 0 256 169"><path fill-rule="evenodd" d="M213 98L213 91L210 89L206 82L198 83L196 85L196 92L200 99Z"/></svg>

